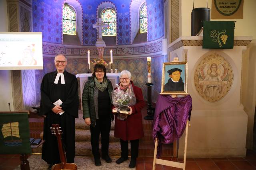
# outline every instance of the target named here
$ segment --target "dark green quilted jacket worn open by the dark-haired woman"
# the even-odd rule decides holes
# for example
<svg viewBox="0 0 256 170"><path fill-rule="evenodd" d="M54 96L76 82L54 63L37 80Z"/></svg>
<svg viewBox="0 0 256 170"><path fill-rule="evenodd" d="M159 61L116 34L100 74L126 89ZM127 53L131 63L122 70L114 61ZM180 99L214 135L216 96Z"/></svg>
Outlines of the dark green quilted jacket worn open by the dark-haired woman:
<svg viewBox="0 0 256 170"><path fill-rule="evenodd" d="M108 80L108 79L107 79ZM108 80L108 94L110 96L110 101L112 102L111 92L113 90L113 86L110 80ZM94 85L94 78L87 81L84 84L83 96L82 96L82 104L83 104L83 119L90 117L91 126L95 127L96 119L98 119L98 88ZM111 103L110 103L111 105ZM111 106L109 110L110 117L114 118Z"/></svg>

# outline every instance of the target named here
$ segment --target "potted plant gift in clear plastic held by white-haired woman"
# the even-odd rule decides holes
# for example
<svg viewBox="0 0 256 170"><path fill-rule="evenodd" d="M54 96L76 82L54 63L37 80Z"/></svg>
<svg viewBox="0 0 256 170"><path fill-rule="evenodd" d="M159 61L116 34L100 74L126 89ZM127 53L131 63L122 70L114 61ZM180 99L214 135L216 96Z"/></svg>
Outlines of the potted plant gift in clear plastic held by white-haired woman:
<svg viewBox="0 0 256 170"><path fill-rule="evenodd" d="M128 114L129 103L132 99L132 96L129 93L125 93L120 89L119 85L116 85L117 89L111 92L113 105L116 107L117 113L125 113ZM115 112L115 110L113 110Z"/></svg>

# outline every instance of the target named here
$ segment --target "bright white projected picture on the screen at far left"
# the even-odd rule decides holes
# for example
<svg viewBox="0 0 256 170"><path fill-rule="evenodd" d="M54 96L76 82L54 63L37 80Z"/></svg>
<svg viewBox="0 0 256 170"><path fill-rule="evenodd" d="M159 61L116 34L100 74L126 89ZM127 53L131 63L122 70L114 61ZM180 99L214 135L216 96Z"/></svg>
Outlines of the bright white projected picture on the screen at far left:
<svg viewBox="0 0 256 170"><path fill-rule="evenodd" d="M0 32L0 70L42 68L41 33Z"/></svg>

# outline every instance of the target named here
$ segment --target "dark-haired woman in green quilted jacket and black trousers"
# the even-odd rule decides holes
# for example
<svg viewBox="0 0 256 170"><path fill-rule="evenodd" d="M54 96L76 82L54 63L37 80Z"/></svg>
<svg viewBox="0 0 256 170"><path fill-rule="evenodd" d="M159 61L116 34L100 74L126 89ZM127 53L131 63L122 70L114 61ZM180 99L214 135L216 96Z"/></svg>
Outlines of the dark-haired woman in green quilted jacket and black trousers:
<svg viewBox="0 0 256 170"><path fill-rule="evenodd" d="M92 79L84 85L82 104L84 122L90 126L92 154L94 163L100 166L99 136L101 135L102 159L112 162L108 156L108 143L111 121L114 119L111 111L112 83L106 78L106 68L95 64Z"/></svg>

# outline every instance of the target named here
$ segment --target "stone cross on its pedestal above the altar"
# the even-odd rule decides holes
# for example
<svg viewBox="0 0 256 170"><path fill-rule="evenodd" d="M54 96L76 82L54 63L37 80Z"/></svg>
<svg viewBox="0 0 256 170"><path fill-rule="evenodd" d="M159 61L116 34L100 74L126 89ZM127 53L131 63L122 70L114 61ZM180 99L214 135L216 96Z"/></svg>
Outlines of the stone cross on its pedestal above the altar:
<svg viewBox="0 0 256 170"><path fill-rule="evenodd" d="M92 27L97 29L98 37L95 46L97 47L99 57L103 59L104 47L106 47L106 44L102 39L102 27L109 27L109 25L104 23L101 18L98 18L98 21L93 24Z"/></svg>

